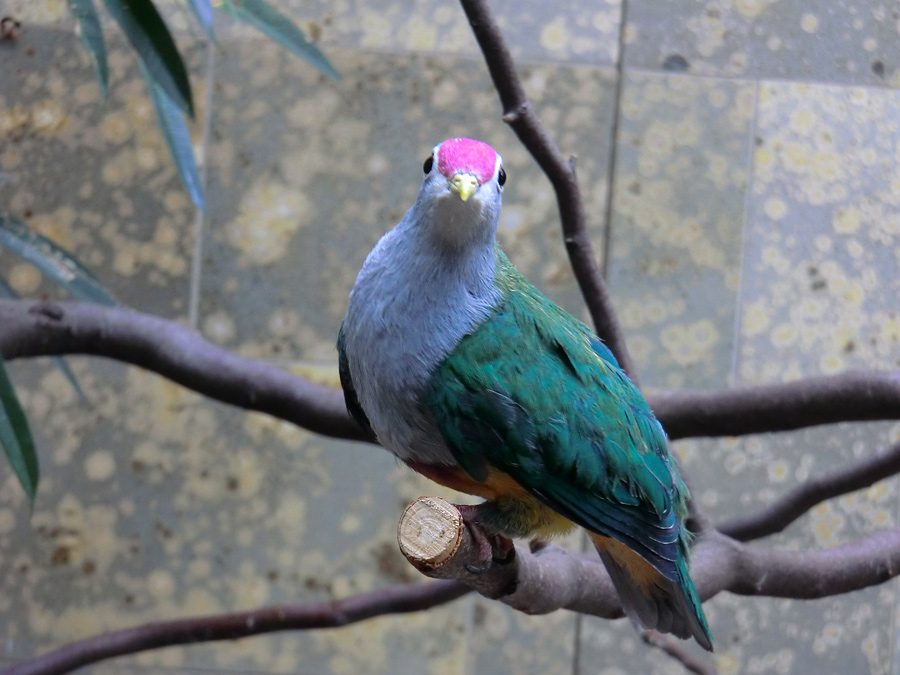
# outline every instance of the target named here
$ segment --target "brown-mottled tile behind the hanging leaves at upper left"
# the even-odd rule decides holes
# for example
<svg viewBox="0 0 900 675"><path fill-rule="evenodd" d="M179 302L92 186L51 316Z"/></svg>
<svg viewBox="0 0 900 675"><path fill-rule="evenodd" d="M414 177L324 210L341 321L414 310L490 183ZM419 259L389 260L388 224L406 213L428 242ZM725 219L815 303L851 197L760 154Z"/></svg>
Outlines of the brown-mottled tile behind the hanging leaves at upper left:
<svg viewBox="0 0 900 675"><path fill-rule="evenodd" d="M2 45L0 165L14 179L0 203L73 253L123 303L166 317L186 311L194 207L156 126L130 47L108 36L104 105L80 41L29 26ZM188 52L191 71L201 66ZM203 87L195 91L198 104ZM53 293L0 254L22 295Z"/></svg>

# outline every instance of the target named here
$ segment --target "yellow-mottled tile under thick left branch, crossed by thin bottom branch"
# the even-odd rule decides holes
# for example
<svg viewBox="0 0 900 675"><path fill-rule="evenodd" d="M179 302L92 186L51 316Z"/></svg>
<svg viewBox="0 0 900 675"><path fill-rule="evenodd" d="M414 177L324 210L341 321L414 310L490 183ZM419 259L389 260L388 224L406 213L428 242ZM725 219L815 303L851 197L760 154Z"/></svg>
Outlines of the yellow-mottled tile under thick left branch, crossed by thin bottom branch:
<svg viewBox="0 0 900 675"><path fill-rule="evenodd" d="M4 658L148 621L425 582L396 546L400 511L425 481L388 453L210 403L137 369L71 363L88 409L49 366L12 364L43 477L30 519L9 472L0 482ZM461 672L467 612L456 602L124 663Z"/></svg>

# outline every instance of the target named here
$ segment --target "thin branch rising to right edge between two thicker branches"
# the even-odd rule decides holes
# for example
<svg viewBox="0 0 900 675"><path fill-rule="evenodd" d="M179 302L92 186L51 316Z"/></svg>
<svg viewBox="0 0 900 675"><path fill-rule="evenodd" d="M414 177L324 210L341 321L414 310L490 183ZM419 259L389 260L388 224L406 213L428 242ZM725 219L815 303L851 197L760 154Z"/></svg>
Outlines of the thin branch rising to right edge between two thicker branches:
<svg viewBox="0 0 900 675"><path fill-rule="evenodd" d="M810 479L761 512L728 521L716 529L738 541L760 539L781 532L816 504L862 490L898 472L900 443L856 465L845 465L837 471Z"/></svg>

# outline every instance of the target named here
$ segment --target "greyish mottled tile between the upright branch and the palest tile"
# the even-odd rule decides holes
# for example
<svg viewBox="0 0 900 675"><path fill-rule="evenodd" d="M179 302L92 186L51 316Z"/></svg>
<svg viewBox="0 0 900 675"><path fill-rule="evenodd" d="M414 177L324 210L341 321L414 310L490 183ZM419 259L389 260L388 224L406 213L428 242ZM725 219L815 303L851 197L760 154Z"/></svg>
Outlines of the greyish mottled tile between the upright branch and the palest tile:
<svg viewBox="0 0 900 675"><path fill-rule="evenodd" d="M645 386L728 381L755 93L626 75L607 278Z"/></svg>

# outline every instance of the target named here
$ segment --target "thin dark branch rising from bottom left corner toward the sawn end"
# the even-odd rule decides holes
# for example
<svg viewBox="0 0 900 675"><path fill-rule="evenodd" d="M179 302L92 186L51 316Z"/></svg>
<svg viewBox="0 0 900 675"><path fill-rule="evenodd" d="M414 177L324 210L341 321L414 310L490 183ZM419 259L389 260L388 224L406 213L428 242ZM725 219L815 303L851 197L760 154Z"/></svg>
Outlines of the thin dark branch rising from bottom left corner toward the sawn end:
<svg viewBox="0 0 900 675"><path fill-rule="evenodd" d="M160 647L236 640L285 630L341 628L385 614L431 609L468 592L462 584L439 581L396 586L333 602L279 605L251 612L150 623L73 642L2 670L0 675L59 675L114 656Z"/></svg>

